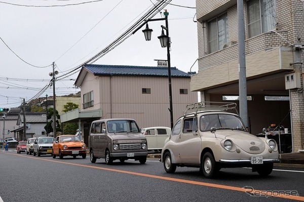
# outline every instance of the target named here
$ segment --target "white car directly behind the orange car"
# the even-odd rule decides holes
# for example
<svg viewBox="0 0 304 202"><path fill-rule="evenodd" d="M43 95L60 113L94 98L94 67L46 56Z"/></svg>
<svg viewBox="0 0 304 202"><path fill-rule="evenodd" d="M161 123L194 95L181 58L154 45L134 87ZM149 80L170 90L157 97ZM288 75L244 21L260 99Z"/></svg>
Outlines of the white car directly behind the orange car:
<svg viewBox="0 0 304 202"><path fill-rule="evenodd" d="M52 155L54 137L37 137L33 145L33 155Z"/></svg>

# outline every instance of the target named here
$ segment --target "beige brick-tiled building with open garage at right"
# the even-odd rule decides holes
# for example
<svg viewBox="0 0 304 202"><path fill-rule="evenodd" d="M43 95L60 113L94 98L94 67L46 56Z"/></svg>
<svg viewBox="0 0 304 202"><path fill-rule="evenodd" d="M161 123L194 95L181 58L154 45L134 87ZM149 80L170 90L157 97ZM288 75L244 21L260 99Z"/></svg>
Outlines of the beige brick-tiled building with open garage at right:
<svg viewBox="0 0 304 202"><path fill-rule="evenodd" d="M199 71L191 90L202 101L239 105L237 0L196 4ZM292 151L304 144L303 19L300 0L244 1L248 126L252 134L271 124L289 128Z"/></svg>

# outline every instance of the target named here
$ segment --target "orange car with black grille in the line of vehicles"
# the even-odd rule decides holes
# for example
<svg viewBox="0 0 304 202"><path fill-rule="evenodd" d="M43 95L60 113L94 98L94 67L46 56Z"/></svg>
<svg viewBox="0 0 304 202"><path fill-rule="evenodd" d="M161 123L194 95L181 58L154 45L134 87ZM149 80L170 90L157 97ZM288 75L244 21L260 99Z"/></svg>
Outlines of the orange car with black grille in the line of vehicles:
<svg viewBox="0 0 304 202"><path fill-rule="evenodd" d="M75 135L59 135L53 142L53 158L59 156L62 159L64 156L82 156L83 159L87 157L86 144Z"/></svg>

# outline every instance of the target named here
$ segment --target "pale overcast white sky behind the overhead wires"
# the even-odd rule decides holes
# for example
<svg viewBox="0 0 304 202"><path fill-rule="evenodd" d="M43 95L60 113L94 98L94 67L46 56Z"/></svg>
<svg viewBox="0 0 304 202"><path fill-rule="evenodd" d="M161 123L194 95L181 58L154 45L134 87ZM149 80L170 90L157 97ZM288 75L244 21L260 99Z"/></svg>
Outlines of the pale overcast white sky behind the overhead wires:
<svg viewBox="0 0 304 202"><path fill-rule="evenodd" d="M51 77L53 62L62 75L99 53L134 24L156 0L103 0L100 2L63 7L54 6L94 0L0 0L0 107L18 107L23 98L34 97ZM10 3L10 4L5 4ZM188 72L198 58L195 0L172 0L165 9L169 12L171 37L171 67ZM164 11L162 11L164 12ZM161 18L160 14L154 18ZM166 60L167 49L157 36L165 21L149 22L153 29L151 41L145 41L142 27L94 64L157 66L155 59ZM33 66L20 60L12 51ZM197 62L191 69L198 72ZM78 73L56 82L56 95L80 91L73 81ZM8 78L8 79L6 79ZM25 79L28 79L27 81ZM39 81L33 81L39 80ZM53 87L41 97L53 95Z"/></svg>

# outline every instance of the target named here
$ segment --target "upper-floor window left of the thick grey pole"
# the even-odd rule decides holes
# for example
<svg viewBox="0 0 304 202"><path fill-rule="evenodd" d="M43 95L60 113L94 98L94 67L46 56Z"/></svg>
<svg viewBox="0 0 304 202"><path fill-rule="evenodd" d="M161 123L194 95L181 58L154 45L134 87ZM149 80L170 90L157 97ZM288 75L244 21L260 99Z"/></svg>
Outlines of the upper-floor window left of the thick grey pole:
<svg viewBox="0 0 304 202"><path fill-rule="evenodd" d="M228 20L225 13L208 22L209 53L223 49L228 40Z"/></svg>

